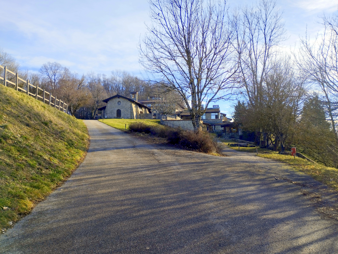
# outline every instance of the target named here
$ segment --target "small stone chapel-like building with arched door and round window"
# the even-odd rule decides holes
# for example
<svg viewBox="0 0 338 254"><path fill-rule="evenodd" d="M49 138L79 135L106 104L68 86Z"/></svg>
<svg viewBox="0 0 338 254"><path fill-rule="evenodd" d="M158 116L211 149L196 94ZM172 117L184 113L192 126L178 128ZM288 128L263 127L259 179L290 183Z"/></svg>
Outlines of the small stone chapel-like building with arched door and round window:
<svg viewBox="0 0 338 254"><path fill-rule="evenodd" d="M103 100L106 106L100 108L104 118L152 119L149 107L137 101L137 92L130 93L130 98L116 94Z"/></svg>

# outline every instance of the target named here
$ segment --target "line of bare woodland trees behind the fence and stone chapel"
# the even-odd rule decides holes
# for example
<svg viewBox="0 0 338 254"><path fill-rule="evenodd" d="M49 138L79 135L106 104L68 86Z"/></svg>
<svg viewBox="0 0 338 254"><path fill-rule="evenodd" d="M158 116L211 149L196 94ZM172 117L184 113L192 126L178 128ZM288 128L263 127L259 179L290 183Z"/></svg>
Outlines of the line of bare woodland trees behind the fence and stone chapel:
<svg viewBox="0 0 338 254"><path fill-rule="evenodd" d="M34 86L38 84L40 88L51 91L58 99L66 101L69 113L80 119L93 119L97 109L105 105L102 100L117 93L129 97L130 92L137 91L139 100L146 100L148 97L174 97L179 100L175 93L164 91L158 85L143 81L124 70L114 70L109 76L94 72L79 76L60 63L48 62L41 66L38 73L33 73L22 71L20 64L2 49L0 65L7 66L12 72L18 72L21 78L29 79ZM0 75L3 76L1 68Z"/></svg>

